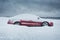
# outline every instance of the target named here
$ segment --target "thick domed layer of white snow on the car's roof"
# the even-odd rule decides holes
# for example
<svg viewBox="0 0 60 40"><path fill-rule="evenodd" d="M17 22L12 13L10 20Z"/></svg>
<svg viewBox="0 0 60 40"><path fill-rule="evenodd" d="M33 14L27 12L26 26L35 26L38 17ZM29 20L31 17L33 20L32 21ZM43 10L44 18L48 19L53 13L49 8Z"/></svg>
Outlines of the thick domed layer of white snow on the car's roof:
<svg viewBox="0 0 60 40"><path fill-rule="evenodd" d="M20 14L12 17L13 19L36 20L39 16L34 14Z"/></svg>

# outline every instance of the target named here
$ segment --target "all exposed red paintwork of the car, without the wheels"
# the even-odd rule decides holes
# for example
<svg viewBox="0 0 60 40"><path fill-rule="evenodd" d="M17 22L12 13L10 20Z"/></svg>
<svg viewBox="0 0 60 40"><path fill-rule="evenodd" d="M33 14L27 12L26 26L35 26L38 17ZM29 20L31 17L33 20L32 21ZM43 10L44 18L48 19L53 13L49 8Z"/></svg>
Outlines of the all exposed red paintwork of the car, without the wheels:
<svg viewBox="0 0 60 40"><path fill-rule="evenodd" d="M43 26L43 22L35 22L35 21L27 21L27 20L20 20L17 21L19 22L19 25L23 25L23 26ZM9 20L8 24L14 24L13 21ZM53 22L48 22L48 26L53 26Z"/></svg>

